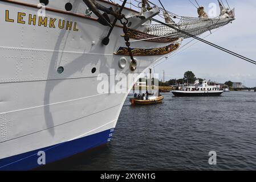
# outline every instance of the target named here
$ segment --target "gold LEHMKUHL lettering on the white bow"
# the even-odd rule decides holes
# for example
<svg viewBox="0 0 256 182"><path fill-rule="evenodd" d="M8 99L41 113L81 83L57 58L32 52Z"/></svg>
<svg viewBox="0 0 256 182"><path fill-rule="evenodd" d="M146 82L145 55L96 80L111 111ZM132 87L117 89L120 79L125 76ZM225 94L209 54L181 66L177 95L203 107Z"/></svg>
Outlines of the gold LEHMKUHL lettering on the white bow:
<svg viewBox="0 0 256 182"><path fill-rule="evenodd" d="M18 12L16 17L17 17L17 20L14 19L14 16L11 17L9 10L5 11L5 21L6 22L11 22L11 23L17 22L17 23L21 23L21 24L28 23L33 26L37 25L39 27L41 27L41 26L49 27L49 28L58 27L59 29L65 28L66 30L70 30L70 31L79 31L76 22L65 21L63 19L57 20L56 18L48 18L47 16L43 17L43 16L32 15L32 14L29 14L27 16L26 13L23 13L23 12ZM56 26L55 23L56 24L58 23L58 26Z"/></svg>

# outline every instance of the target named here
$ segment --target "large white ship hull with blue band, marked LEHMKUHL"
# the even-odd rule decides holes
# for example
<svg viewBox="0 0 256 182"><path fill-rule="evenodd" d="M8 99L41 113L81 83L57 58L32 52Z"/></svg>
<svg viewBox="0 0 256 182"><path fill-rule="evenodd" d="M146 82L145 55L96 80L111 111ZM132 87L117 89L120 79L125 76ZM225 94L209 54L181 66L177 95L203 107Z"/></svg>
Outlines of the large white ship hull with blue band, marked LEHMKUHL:
<svg viewBox="0 0 256 182"><path fill-rule="evenodd" d="M109 142L136 79L122 88L125 93L99 93L97 76L111 80L140 74L163 58L137 56L136 71L129 63L121 69L122 56L113 53L125 47L123 29L115 27L109 45L103 46L109 28L81 15L86 9L82 0L50 1L46 26L39 26L38 16L31 20L38 13L38 1L18 2L0 1L0 170L38 167L40 151L50 163ZM69 13L64 9L67 2L73 5ZM53 19L55 28L50 27ZM64 27L59 20L65 20ZM156 43L132 46L151 48ZM64 68L61 74L59 67Z"/></svg>

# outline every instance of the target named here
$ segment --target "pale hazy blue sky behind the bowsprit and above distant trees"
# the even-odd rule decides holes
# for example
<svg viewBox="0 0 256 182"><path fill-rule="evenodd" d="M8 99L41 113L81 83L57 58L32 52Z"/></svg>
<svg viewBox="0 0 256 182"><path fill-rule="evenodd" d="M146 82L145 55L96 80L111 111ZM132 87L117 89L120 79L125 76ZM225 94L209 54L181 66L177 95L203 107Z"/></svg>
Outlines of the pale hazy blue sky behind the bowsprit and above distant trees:
<svg viewBox="0 0 256 182"><path fill-rule="evenodd" d="M158 0L151 0L159 5ZM195 3L194 0L191 0ZM198 16L197 9L188 1L161 0L165 8L172 13L184 16ZM210 3L216 3L217 14L220 14L217 0L197 0L200 6L204 6L206 13L209 13ZM225 3L226 1L222 0ZM235 20L227 24L213 34L209 32L201 35L205 40L222 46L230 51L237 52L245 57L256 60L256 1L255 0L229 0L227 1L233 9L235 7ZM185 40L190 41L192 38ZM192 43L196 43L194 40ZM196 77L207 80L243 82L248 87L256 86L256 65L247 63L237 57L222 52L207 44L197 42L185 51L177 53L176 56L164 61L155 67L155 72L165 70L165 80L171 78L182 78L184 72L192 71Z"/></svg>

